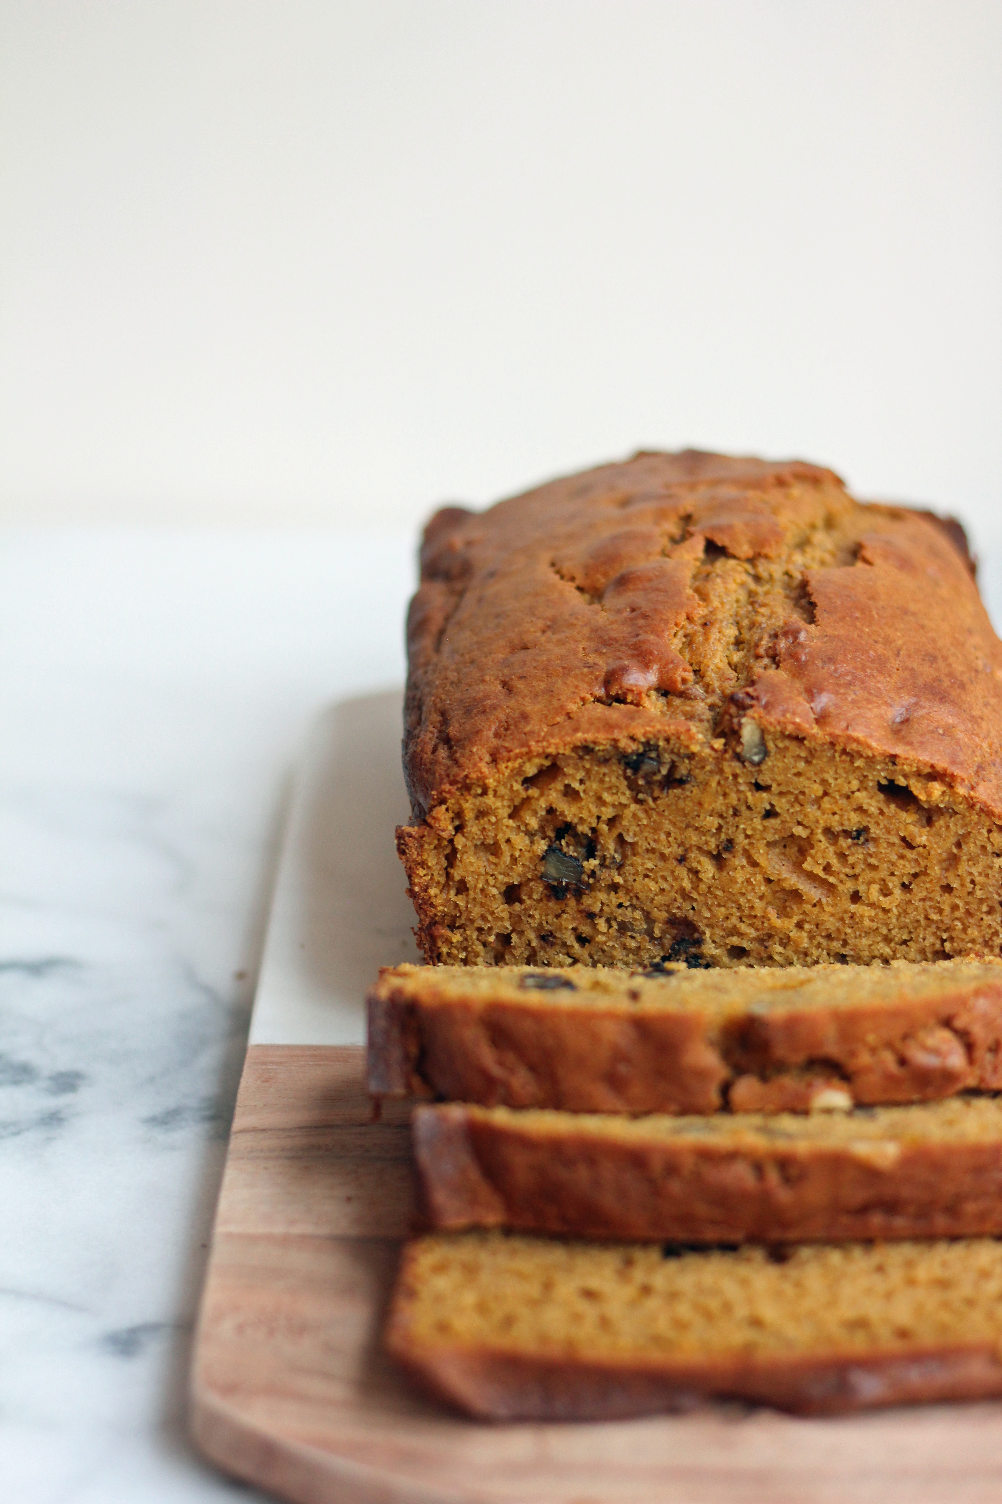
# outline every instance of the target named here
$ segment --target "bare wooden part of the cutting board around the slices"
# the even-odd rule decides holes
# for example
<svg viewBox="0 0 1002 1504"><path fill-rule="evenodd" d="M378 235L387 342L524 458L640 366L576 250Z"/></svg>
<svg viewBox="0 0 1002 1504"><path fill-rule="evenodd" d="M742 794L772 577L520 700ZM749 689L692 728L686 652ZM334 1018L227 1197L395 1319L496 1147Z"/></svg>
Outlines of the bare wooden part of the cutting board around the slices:
<svg viewBox="0 0 1002 1504"><path fill-rule="evenodd" d="M302 1504L988 1504L1002 1405L799 1420L739 1405L487 1426L415 1393L379 1333L412 1215L407 1110L358 1047L248 1051L192 1375L197 1444Z"/></svg>

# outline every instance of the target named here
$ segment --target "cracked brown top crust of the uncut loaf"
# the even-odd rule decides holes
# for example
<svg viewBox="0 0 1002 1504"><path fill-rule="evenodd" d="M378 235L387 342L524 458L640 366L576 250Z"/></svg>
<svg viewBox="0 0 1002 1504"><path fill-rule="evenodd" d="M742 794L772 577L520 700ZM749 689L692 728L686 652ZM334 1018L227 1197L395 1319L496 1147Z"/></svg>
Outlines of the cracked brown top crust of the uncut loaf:
<svg viewBox="0 0 1002 1504"><path fill-rule="evenodd" d="M527 757L696 749L735 714L900 757L1002 817L1002 644L963 531L799 460L637 454L448 507L407 641L418 818Z"/></svg>

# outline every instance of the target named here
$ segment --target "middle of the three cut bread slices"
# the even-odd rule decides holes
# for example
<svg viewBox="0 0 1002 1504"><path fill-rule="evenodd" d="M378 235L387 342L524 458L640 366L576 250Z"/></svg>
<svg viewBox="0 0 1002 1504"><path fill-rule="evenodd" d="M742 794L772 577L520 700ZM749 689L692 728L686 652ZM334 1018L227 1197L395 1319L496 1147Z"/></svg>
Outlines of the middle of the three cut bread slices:
<svg viewBox="0 0 1002 1504"><path fill-rule="evenodd" d="M811 1117L418 1107L431 1227L720 1244L1002 1233L1002 1098Z"/></svg>

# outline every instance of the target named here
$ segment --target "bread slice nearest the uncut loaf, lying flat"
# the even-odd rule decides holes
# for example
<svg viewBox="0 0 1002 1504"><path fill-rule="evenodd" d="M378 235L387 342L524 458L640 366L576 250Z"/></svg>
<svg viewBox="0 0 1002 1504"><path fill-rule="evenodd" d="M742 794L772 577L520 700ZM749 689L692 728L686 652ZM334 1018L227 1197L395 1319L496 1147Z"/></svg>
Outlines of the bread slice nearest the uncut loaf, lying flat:
<svg viewBox="0 0 1002 1504"><path fill-rule="evenodd" d="M1002 1090L1002 963L388 967L368 996L368 1081L377 1095L595 1113Z"/></svg>

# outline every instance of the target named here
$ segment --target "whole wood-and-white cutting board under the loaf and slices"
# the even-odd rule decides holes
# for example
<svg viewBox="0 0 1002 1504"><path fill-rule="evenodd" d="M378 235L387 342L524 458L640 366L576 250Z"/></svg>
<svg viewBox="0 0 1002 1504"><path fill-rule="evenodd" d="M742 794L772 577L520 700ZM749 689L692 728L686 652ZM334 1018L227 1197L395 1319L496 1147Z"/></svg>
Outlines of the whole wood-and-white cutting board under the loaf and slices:
<svg viewBox="0 0 1002 1504"><path fill-rule="evenodd" d="M412 1206L407 1111L373 1114L362 996L416 958L398 746L398 695L347 701L299 778L195 1340L206 1456L302 1504L1002 1499L997 1403L485 1426L395 1372L379 1333Z"/></svg>

